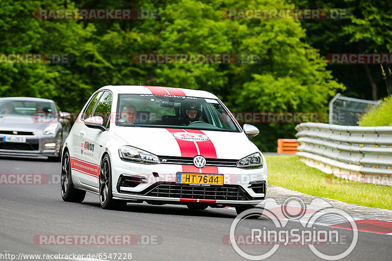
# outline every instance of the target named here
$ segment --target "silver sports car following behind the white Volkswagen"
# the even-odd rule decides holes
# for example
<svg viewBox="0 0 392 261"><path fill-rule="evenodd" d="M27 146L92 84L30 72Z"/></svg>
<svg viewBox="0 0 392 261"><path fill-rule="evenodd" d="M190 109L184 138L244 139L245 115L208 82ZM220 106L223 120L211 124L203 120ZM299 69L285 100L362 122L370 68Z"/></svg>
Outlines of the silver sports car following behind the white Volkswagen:
<svg viewBox="0 0 392 261"><path fill-rule="evenodd" d="M70 131L68 119L70 114L60 112L53 100L0 98L0 155L59 161Z"/></svg>

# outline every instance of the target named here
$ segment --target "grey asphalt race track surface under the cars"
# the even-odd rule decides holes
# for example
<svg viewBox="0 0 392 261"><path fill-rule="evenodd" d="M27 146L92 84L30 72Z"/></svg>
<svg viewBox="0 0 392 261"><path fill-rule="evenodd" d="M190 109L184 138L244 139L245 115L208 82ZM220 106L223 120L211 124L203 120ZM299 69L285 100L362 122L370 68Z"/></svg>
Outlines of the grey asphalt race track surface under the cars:
<svg viewBox="0 0 392 261"><path fill-rule="evenodd" d="M230 209L192 211L185 206L129 203L124 211L106 211L100 208L98 195L91 193L83 203L63 202L59 185L60 163L0 158L0 174L45 174L48 177L48 182L40 185L0 184L2 255L112 253L111 260L128 260L124 256L114 259L114 253L131 253L132 260L245 260L222 240L227 238L236 217ZM244 231L246 226L274 228L264 217L245 220ZM301 225L289 222L286 229L291 228L301 228ZM351 230L338 231L346 241L351 240ZM137 241L131 245L44 245L37 239L39 235L132 235ZM391 239L390 235L359 232L358 243L345 260L389 261ZM325 253L338 253L347 246L324 244L319 247ZM263 253L261 246L242 248L248 253ZM102 257L95 259L105 260ZM0 260L9 259L0 255ZM288 245L280 246L269 260L321 259L307 245Z"/></svg>

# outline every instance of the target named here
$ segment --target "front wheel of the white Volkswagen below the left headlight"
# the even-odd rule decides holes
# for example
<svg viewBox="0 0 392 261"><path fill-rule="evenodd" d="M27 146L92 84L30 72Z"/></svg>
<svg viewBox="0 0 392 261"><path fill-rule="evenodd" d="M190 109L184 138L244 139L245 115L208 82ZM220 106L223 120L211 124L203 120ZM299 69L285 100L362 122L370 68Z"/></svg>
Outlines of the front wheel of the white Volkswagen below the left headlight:
<svg viewBox="0 0 392 261"><path fill-rule="evenodd" d="M102 158L99 169L99 203L105 210L122 209L127 203L125 200L113 199L112 165L107 154Z"/></svg>

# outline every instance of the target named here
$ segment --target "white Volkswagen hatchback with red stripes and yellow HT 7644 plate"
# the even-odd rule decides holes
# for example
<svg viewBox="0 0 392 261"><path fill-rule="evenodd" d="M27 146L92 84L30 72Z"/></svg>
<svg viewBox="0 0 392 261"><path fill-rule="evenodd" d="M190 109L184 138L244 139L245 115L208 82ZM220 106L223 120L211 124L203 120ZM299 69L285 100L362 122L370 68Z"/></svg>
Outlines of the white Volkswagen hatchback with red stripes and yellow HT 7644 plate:
<svg viewBox="0 0 392 261"><path fill-rule="evenodd" d="M267 164L221 100L172 87L105 86L73 124L62 152L61 195L99 195L104 209L127 202L235 207L266 197Z"/></svg>

